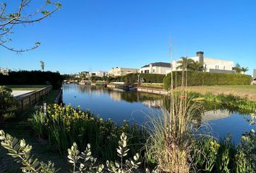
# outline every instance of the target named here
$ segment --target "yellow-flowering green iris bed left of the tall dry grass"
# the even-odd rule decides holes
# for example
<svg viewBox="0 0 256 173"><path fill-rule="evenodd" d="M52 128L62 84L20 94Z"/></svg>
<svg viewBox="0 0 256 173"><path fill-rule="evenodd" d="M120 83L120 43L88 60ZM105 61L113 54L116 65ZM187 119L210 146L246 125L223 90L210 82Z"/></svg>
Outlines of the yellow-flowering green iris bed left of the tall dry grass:
<svg viewBox="0 0 256 173"><path fill-rule="evenodd" d="M115 150L121 133L127 133L130 142L136 144L131 151L140 150L142 132L137 125L118 126L111 120L103 121L94 117L90 111L82 111L80 107L74 109L70 105L48 105L46 117L42 112L35 112L32 127L40 138L48 139L48 143L56 146L63 154L73 142L80 148L90 143L92 151L101 159L116 159Z"/></svg>

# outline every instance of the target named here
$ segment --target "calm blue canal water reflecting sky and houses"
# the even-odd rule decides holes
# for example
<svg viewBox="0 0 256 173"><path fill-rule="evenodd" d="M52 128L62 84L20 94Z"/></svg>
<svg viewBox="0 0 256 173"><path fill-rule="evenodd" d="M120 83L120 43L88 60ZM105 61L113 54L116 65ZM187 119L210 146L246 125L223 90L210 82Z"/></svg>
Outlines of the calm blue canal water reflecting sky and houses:
<svg viewBox="0 0 256 173"><path fill-rule="evenodd" d="M161 114L163 96L143 92L124 92L121 89L109 89L101 86L64 84L63 102L82 110L90 110L103 120L111 119L121 125L124 120L142 125L148 117ZM252 130L248 115L222 108L205 112L201 121L206 124L205 132L217 138L232 136L239 143L242 133Z"/></svg>

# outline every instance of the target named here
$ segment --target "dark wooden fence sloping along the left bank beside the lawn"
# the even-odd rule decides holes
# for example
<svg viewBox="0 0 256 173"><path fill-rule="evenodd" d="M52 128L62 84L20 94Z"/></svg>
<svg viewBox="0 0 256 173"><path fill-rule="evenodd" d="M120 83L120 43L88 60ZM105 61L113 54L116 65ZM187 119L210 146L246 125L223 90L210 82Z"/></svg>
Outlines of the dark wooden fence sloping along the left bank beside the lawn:
<svg viewBox="0 0 256 173"><path fill-rule="evenodd" d="M31 106L35 105L43 96L49 94L52 90L52 86L47 86L35 92L22 94L17 96L16 99L20 102L22 111L28 110Z"/></svg>

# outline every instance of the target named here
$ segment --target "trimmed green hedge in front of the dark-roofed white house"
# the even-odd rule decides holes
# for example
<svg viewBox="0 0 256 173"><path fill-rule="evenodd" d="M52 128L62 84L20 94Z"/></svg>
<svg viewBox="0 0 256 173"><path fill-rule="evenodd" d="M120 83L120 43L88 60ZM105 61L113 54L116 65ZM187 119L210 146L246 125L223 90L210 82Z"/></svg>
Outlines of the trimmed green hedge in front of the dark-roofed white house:
<svg viewBox="0 0 256 173"><path fill-rule="evenodd" d="M121 76L121 81L124 81L126 84L136 83L138 80L138 74L127 74ZM163 79L166 75L164 74L140 74L140 79L143 78L143 82L146 83L163 83Z"/></svg>

